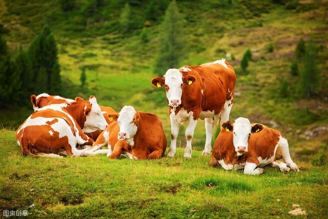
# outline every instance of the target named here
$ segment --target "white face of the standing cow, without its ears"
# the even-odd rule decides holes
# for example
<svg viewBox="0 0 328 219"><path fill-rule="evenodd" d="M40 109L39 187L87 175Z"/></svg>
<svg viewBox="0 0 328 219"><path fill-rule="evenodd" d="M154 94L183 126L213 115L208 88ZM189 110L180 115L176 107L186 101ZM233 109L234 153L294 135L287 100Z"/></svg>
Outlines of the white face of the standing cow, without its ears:
<svg viewBox="0 0 328 219"><path fill-rule="evenodd" d="M177 105L181 104L182 95L182 74L178 69L169 69L165 73L165 84L169 87L169 91L166 93L166 97L169 100L169 106L173 106L171 101L177 101Z"/></svg>

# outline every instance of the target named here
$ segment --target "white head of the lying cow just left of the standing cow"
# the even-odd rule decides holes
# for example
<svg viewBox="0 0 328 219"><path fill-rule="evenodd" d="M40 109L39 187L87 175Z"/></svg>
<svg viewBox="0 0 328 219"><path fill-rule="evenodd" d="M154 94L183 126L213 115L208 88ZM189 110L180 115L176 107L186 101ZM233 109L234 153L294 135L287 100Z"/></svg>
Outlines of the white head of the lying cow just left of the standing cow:
<svg viewBox="0 0 328 219"><path fill-rule="evenodd" d="M118 140L129 140L137 133L140 115L132 106L124 106L119 112L117 123L119 126Z"/></svg>

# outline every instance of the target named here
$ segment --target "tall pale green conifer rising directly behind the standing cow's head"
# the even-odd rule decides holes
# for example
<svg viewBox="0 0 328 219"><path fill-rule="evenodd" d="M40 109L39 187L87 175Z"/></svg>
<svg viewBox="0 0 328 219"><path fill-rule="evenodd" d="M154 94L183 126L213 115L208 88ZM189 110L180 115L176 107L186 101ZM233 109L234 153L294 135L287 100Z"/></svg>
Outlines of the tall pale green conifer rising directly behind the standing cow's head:
<svg viewBox="0 0 328 219"><path fill-rule="evenodd" d="M169 68L179 67L180 59L185 55L186 42L183 41L182 18L173 0L165 12L158 38L158 54L155 73L162 75Z"/></svg>

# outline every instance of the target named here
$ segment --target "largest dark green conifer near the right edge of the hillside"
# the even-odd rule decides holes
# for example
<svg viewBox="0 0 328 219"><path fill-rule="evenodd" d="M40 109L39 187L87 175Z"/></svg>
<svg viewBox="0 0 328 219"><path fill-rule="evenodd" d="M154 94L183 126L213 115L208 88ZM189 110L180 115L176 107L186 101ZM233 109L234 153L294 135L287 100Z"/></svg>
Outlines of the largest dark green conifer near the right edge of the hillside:
<svg viewBox="0 0 328 219"><path fill-rule="evenodd" d="M313 95L319 82L320 72L316 63L317 54L318 48L313 42L310 42L305 47L303 68L300 72L300 91L304 96L310 97Z"/></svg>

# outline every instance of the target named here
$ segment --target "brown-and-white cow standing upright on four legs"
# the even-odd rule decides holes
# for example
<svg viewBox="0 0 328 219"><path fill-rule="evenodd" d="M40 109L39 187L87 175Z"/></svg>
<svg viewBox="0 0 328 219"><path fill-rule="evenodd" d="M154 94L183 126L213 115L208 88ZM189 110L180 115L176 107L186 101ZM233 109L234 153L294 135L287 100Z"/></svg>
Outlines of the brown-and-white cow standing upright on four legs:
<svg viewBox="0 0 328 219"><path fill-rule="evenodd" d="M154 77L152 85L164 87L171 121L169 157L176 153L179 126L189 121L186 129L187 145L183 157L191 158L191 141L198 118L205 120L206 143L202 154L211 154L214 116L220 122L229 120L233 104L236 74L225 59L200 66L169 69L163 77Z"/></svg>

